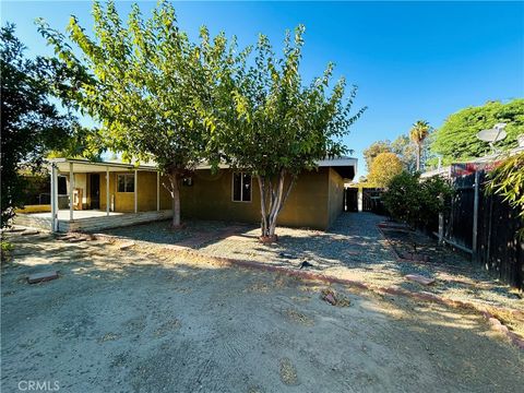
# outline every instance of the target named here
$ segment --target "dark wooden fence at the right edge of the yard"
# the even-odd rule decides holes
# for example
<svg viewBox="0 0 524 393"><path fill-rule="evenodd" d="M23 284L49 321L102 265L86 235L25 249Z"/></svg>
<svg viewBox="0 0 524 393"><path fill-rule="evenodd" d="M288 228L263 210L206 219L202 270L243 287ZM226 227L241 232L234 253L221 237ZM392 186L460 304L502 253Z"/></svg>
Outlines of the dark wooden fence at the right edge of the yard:
<svg viewBox="0 0 524 393"><path fill-rule="evenodd" d="M523 221L501 196L486 193L486 179L481 165L451 167L455 194L439 219L439 237L469 253L502 282L524 289L524 242L516 236Z"/></svg>

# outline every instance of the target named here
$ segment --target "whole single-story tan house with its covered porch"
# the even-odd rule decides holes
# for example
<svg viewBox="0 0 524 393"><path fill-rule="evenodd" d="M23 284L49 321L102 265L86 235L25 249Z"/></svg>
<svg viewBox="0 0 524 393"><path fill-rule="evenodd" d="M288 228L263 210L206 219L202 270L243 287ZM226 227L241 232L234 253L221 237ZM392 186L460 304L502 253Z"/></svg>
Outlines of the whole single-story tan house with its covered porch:
<svg viewBox="0 0 524 393"><path fill-rule="evenodd" d="M163 186L167 178L155 165L69 158L49 163L51 203L25 206L15 224L96 231L172 216L171 198ZM320 160L317 170L301 174L278 225L327 229L344 210L344 182L356 169L356 158L342 157ZM180 204L183 218L260 222L257 179L224 165L216 172L201 166L183 179Z"/></svg>

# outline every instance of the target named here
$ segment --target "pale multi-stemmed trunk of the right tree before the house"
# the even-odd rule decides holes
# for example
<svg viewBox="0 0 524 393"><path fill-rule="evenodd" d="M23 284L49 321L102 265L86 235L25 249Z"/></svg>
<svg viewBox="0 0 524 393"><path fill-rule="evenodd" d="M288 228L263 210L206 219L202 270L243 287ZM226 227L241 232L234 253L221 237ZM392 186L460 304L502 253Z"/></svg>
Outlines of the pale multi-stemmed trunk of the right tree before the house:
<svg viewBox="0 0 524 393"><path fill-rule="evenodd" d="M273 242L277 240L275 234L276 219L291 191L295 179L290 178L287 187L285 187L286 171L281 170L276 179L276 186L273 184L272 179L269 177L258 176L258 180L262 215L260 239L262 242Z"/></svg>

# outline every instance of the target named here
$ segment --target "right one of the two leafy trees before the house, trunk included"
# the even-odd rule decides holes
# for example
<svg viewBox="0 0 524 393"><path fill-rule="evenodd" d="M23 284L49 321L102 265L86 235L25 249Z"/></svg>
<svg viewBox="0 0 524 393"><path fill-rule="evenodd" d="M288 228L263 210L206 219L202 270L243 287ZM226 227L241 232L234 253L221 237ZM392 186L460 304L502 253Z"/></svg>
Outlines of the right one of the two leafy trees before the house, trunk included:
<svg viewBox="0 0 524 393"><path fill-rule="evenodd" d="M303 31L298 26L294 37L287 32L282 57L261 35L250 66L222 75L223 104L213 111L228 162L258 179L261 233L270 241L297 176L315 169L319 159L344 154L342 138L365 110L350 115L356 88L345 99L344 80L331 86L332 64L302 83Z"/></svg>

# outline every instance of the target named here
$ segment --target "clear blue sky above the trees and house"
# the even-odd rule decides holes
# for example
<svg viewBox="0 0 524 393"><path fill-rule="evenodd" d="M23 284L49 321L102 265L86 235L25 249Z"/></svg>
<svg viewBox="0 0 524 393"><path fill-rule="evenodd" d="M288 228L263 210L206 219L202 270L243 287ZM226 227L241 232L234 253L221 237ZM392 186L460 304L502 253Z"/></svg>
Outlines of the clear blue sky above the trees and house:
<svg viewBox="0 0 524 393"><path fill-rule="evenodd" d="M154 2L140 2L146 11ZM126 14L130 2L119 2ZM286 28L306 25L302 72L308 81L336 64L359 87L355 108L368 110L346 138L366 169L362 150L409 130L418 119L438 128L467 106L524 96L523 2L179 2L180 25L192 37L237 35L240 45L266 34L282 47ZM91 28L90 1L2 1L1 20L17 26L28 53L49 53L34 20L62 29L71 14Z"/></svg>

